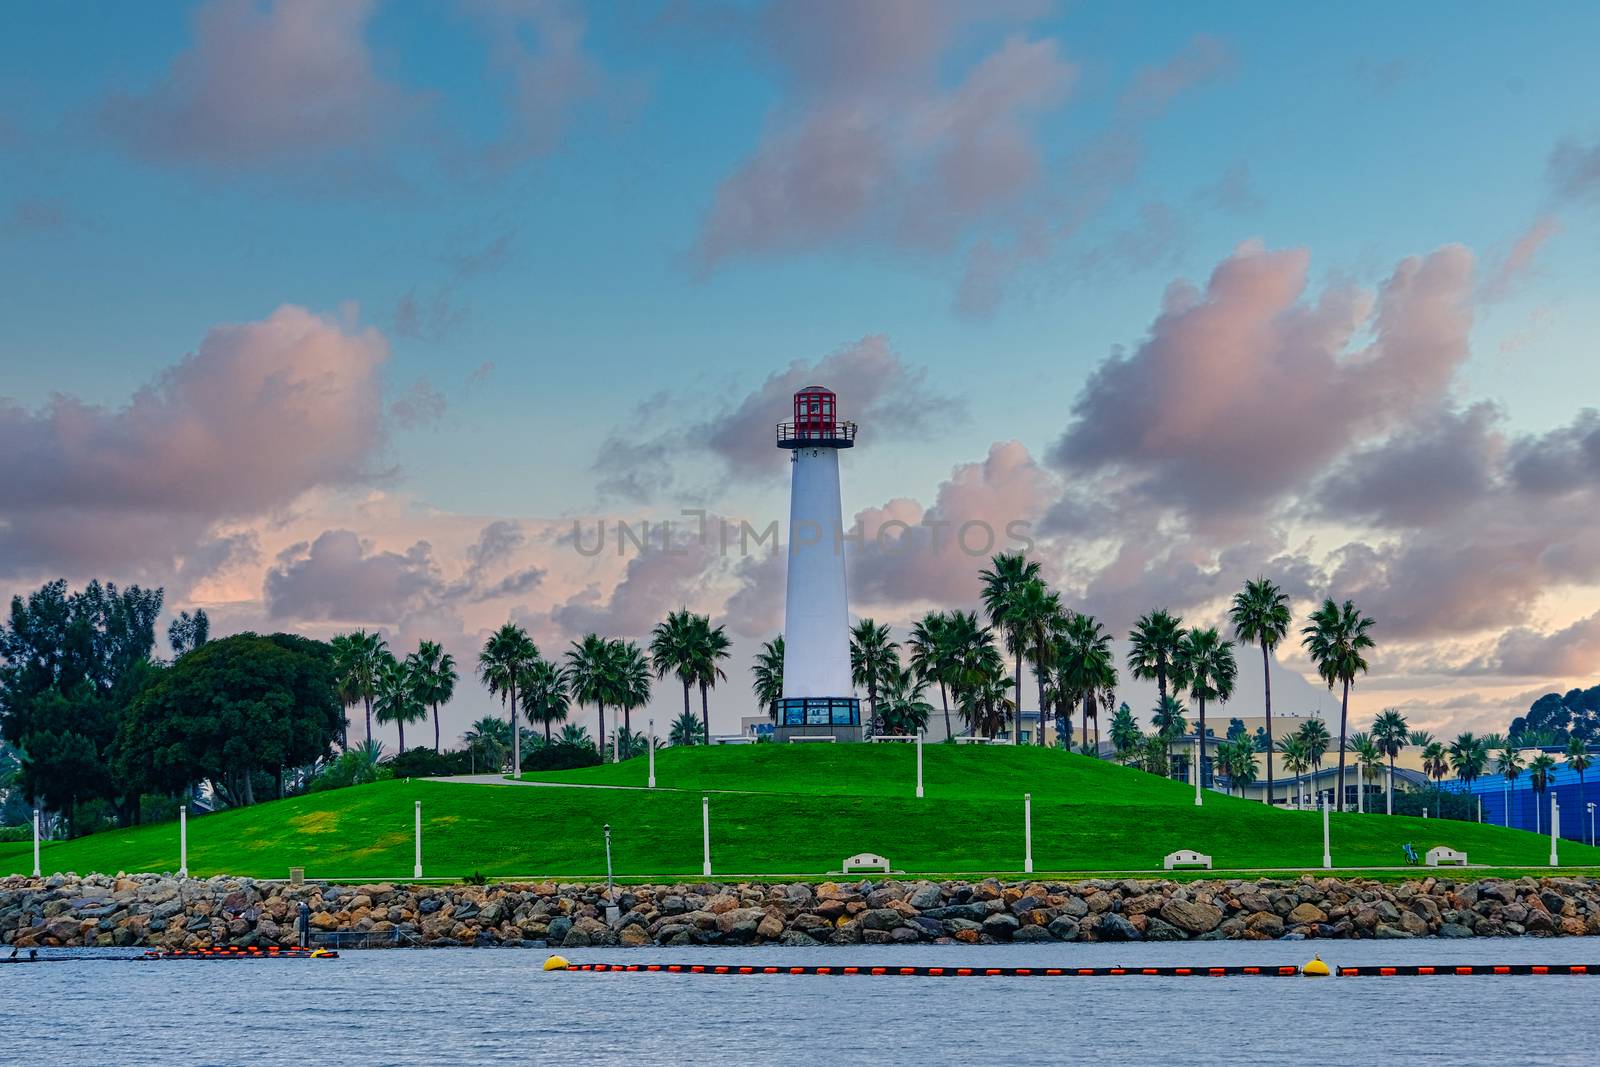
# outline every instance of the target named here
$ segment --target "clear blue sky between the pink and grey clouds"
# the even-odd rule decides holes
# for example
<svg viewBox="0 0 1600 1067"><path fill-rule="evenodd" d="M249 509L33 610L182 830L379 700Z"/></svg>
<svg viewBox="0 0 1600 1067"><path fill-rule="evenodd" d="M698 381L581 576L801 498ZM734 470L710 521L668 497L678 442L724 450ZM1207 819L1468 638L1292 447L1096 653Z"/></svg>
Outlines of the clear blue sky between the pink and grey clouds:
<svg viewBox="0 0 1600 1067"><path fill-rule="evenodd" d="M1139 349L1168 285L1205 285L1248 240L1309 253L1306 302L1326 286L1376 291L1408 256L1470 250L1469 350L1427 406L1499 405L1502 451L1566 426L1600 394L1600 182L1582 184L1600 138L1594 5L784 6L389 2L334 18L333 5L21 5L0 38L0 395L34 414L54 394L115 413L219 325L259 323L282 306L347 333L376 330L387 357L374 403L421 382L414 395L442 410L381 408L355 458L373 477L264 491L190 531L214 541L250 530L254 563L234 557L206 577L182 545L154 553L165 561L126 558L130 576L165 581L174 600L314 629L395 621L371 605L298 619L267 603L262 573L280 566L290 530L299 544L318 526L354 528L373 553L427 539L448 576L467 552L443 530L456 518L670 514L675 501L597 493L613 432L672 450L677 485L709 488L712 507L781 509L781 477L723 480L715 458L661 437L640 405L667 429L698 426L790 363L864 338L886 338L909 376L886 387L939 413L867 427L882 443L851 458L848 512L893 498L930 506L952 469L1005 440L1069 486L1102 477L1045 461L1074 403L1093 400L1091 374L1114 350ZM206 37L206 19L219 37ZM299 64L323 48L334 56L312 70L331 88L301 91L310 78ZM1002 88L962 98L990 59ZM518 77L533 86L522 98ZM938 138L941 122L960 120L957 101L979 114L984 150L995 130L1016 134L992 166L957 142L979 208L930 194L930 176L955 165ZM789 197L838 178L813 155L782 155L786 138L832 120L864 126L891 157L858 171L853 142L842 162L846 178L874 182L862 206L822 197L789 229L776 210L762 234L734 227L733 250L707 264L718 219L733 218L718 214L720 197L741 174L778 160ZM518 123L538 133L509 138ZM1106 170L1107 144L1136 162ZM1578 160L1571 181L1552 162L1563 144ZM1011 162L1024 176L1002 186ZM744 189L776 195L760 186L770 178ZM998 299L963 309L976 246L1014 251L1069 218L1070 234L1013 262ZM1368 341L1366 326L1352 334L1355 347ZM1330 418L1339 402L1326 398ZM1362 429L1339 458L1426 421L1418 411ZM1339 458L1307 469L1306 486ZM1118 462L1126 475L1134 461ZM374 491L411 517L403 533L362 526L352 509ZM0 517L19 528L35 504L0 496ZM130 507L166 514L162 501ZM1325 576L1338 573L1326 553L1352 537L1418 533L1304 514L1304 501L1280 499L1262 523L1294 553L1315 539L1307 558ZM1163 522L1184 528L1186 552L1221 566L1234 534L1202 536L1186 515ZM1107 531L1094 541L1099 555L1054 549L1062 581L1086 595L1118 544ZM3 569L22 587L107 561L115 555L62 549ZM1160 566L1174 561L1149 563ZM590 577L602 600L621 581ZM584 582L557 584L526 603L405 609L451 614L466 646L485 613L554 617ZM1587 616L1587 571L1536 585L1541 606L1507 625L1554 635ZM1499 637L1421 627L1406 641L1448 638L1456 651L1440 673L1413 645L1394 675L1427 699L1467 699L1462 672L1498 654ZM1510 696L1534 685L1494 681Z"/></svg>

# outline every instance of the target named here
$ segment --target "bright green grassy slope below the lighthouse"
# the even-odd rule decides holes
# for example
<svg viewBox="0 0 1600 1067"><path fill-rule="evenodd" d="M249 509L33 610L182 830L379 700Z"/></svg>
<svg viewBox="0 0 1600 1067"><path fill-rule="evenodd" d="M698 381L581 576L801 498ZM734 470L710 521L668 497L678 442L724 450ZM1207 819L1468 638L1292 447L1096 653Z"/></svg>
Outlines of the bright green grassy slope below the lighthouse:
<svg viewBox="0 0 1600 1067"><path fill-rule="evenodd" d="M602 825L613 827L619 877L699 875L701 790L714 792L714 870L822 873L877 851L917 873L1022 867L1022 792L1034 795L1038 872L1139 870L1176 848L1219 867L1317 867L1322 816L1194 790L1099 760L1042 749L925 749L926 798L912 798L915 752L902 745L758 745L667 750L659 789L530 789L379 782L224 811L189 825L198 875L403 878L411 872L411 803L422 801L430 877L603 877ZM645 761L539 776L643 785ZM1464 848L1474 862L1539 867L1547 838L1498 827L1384 816L1334 816L1339 865L1390 865L1400 845ZM1562 845L1568 864L1600 851ZM30 846L0 845L0 873L30 867ZM171 824L48 845L46 870L171 870Z"/></svg>

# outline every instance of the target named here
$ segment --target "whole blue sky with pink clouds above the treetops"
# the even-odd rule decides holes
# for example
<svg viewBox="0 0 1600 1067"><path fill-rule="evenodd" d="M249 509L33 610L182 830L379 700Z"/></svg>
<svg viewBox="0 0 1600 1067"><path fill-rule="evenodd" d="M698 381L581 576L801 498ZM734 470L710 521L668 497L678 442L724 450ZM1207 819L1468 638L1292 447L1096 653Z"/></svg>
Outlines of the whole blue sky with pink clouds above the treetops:
<svg viewBox="0 0 1600 1067"><path fill-rule="evenodd" d="M973 606L939 533L1016 522L1118 632L1258 573L1352 597L1358 715L1501 728L1600 665L1597 38L1589 3L16 5L0 590L462 662L688 605L736 635L731 729L782 558L717 530L784 517L816 381L862 427L856 613ZM1331 705L1283 661L1280 707Z"/></svg>

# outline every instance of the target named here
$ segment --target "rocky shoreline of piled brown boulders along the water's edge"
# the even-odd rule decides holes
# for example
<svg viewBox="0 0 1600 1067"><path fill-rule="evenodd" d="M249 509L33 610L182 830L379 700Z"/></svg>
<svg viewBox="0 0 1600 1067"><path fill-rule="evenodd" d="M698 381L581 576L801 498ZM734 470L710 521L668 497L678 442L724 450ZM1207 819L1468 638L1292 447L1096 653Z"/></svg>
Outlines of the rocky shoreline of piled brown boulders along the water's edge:
<svg viewBox="0 0 1600 1067"><path fill-rule="evenodd" d="M338 885L0 880L0 944L163 947L858 945L1600 936L1600 878L1352 877ZM608 920L608 905L616 907ZM357 945L352 945L357 942Z"/></svg>

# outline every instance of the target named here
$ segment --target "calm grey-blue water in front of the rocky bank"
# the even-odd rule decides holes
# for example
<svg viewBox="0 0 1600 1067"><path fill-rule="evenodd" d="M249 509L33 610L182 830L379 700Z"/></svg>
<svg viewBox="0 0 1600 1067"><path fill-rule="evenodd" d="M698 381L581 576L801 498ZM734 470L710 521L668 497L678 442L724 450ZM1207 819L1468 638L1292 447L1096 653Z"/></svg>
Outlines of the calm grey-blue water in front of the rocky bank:
<svg viewBox="0 0 1600 1067"><path fill-rule="evenodd" d="M1600 939L574 950L832 965L1600 963ZM1600 977L581 974L536 950L0 966L5 1064L1594 1064ZM1307 1059L1310 1051L1310 1059Z"/></svg>

